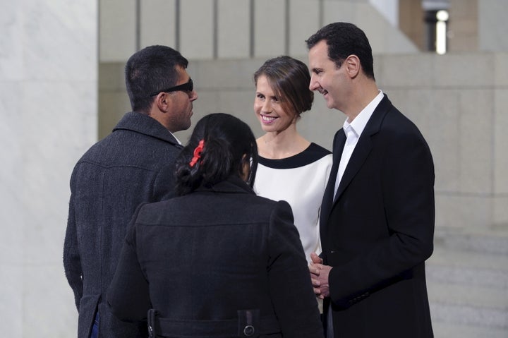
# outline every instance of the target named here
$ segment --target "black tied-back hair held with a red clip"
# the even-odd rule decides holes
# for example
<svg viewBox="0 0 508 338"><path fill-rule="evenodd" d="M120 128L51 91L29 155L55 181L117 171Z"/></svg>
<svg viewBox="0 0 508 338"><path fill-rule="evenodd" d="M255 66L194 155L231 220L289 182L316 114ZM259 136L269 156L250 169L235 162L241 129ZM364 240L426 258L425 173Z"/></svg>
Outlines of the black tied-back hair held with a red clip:
<svg viewBox="0 0 508 338"><path fill-rule="evenodd" d="M200 140L200 158L191 166ZM186 195L200 186L211 187L230 176L241 176L243 166L249 162L247 183L252 188L258 169L258 146L250 127L230 114L206 115L196 123L176 159L176 194Z"/></svg>

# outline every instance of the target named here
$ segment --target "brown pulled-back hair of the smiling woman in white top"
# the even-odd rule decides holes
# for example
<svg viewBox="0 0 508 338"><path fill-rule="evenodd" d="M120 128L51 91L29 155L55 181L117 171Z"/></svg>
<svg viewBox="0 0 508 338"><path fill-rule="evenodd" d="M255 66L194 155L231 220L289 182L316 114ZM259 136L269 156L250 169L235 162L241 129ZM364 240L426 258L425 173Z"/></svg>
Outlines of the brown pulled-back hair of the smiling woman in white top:
<svg viewBox="0 0 508 338"><path fill-rule="evenodd" d="M269 59L254 73L255 85L260 76L267 77L285 109L300 116L312 108L314 92L309 89L310 73L302 61L285 55Z"/></svg>

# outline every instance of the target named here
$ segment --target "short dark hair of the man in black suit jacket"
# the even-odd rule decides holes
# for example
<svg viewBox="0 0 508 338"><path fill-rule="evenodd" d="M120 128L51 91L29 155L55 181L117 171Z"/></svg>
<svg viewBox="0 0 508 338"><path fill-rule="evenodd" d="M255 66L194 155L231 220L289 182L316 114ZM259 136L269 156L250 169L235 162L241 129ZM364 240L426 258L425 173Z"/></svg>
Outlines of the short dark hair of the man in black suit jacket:
<svg viewBox="0 0 508 338"><path fill-rule="evenodd" d="M352 23L330 23L306 40L307 48L311 49L322 40L327 43L328 58L334 61L337 68L354 54L360 59L363 73L375 80L372 48L363 30Z"/></svg>

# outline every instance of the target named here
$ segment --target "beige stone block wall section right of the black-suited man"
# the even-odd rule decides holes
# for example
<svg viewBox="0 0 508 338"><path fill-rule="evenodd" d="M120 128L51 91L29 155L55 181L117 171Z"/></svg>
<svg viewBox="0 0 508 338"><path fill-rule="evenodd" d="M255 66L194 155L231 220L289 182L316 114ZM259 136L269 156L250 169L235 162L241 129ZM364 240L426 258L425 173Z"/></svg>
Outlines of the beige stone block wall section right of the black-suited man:
<svg viewBox="0 0 508 338"><path fill-rule="evenodd" d="M381 59L380 86L433 151L437 226L507 225L507 54Z"/></svg>

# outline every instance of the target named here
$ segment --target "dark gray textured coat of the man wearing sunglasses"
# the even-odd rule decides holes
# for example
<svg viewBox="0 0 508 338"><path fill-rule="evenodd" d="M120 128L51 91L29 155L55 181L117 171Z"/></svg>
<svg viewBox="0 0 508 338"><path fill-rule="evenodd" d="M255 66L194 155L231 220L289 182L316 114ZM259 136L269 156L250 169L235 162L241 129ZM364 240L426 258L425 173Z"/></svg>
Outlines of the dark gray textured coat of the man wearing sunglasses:
<svg viewBox="0 0 508 338"><path fill-rule="evenodd" d="M146 325L121 322L103 303L135 208L171 195L181 145L150 116L130 112L88 150L71 176L63 265L87 338L99 308L99 337L145 337Z"/></svg>

